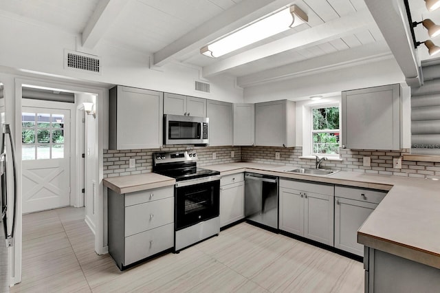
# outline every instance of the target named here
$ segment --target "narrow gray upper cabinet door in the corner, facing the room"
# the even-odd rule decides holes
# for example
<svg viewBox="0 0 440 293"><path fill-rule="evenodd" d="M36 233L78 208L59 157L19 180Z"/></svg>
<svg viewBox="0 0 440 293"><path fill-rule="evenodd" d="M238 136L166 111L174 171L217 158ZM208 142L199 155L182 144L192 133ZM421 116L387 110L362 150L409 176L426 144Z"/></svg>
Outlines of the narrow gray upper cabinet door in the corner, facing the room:
<svg viewBox="0 0 440 293"><path fill-rule="evenodd" d="M234 146L254 145L254 104L234 104Z"/></svg>

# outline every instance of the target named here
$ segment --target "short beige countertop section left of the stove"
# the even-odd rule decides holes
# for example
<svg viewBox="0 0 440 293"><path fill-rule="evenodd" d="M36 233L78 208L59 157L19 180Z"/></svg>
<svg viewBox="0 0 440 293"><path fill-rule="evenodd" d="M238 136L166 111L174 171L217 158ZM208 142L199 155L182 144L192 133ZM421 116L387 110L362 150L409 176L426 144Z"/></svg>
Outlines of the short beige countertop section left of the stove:
<svg viewBox="0 0 440 293"><path fill-rule="evenodd" d="M151 188L173 186L176 183L174 178L166 177L156 173L145 173L138 175L110 177L102 180L104 186L116 193L133 193Z"/></svg>

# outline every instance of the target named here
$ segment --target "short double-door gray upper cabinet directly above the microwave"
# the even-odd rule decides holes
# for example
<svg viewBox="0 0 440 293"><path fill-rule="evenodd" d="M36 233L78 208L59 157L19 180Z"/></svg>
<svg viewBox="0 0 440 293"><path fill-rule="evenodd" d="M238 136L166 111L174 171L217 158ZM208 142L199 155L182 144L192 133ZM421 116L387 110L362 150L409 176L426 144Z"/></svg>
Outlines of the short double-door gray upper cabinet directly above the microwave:
<svg viewBox="0 0 440 293"><path fill-rule="evenodd" d="M165 93L164 114L206 117L206 99Z"/></svg>

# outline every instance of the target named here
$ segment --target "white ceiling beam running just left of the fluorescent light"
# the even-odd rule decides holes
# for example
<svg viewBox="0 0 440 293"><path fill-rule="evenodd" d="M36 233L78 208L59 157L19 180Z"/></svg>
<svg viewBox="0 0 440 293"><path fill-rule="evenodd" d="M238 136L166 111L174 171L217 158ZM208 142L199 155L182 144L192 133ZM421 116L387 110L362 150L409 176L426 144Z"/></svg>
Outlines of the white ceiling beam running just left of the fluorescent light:
<svg viewBox="0 0 440 293"><path fill-rule="evenodd" d="M188 52L199 50L206 43L291 3L292 0L243 0L155 52L154 65L162 66Z"/></svg>

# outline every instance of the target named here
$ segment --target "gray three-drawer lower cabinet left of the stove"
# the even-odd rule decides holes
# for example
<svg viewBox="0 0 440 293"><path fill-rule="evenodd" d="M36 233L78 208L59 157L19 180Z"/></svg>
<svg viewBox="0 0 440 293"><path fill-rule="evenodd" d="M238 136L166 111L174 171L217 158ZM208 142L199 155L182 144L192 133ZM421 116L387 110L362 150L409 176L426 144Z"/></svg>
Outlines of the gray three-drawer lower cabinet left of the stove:
<svg viewBox="0 0 440 293"><path fill-rule="evenodd" d="M109 253L120 270L173 248L173 186L122 195L108 191Z"/></svg>

